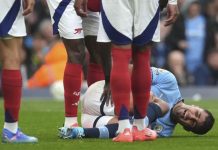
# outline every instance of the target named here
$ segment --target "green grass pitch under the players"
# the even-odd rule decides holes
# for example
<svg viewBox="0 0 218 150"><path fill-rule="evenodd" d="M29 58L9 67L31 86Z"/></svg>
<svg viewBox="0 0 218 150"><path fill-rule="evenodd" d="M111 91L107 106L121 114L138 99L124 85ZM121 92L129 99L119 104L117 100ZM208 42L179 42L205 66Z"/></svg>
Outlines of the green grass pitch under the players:
<svg viewBox="0 0 218 150"><path fill-rule="evenodd" d="M177 126L171 138L159 138L152 142L114 143L111 139L62 140L57 129L64 120L64 104L52 100L24 100L19 125L25 133L39 138L36 144L2 144L0 150L217 150L218 149L218 100L187 101L189 104L208 108L216 119L212 131L196 136ZM0 100L0 125L3 126L3 101Z"/></svg>

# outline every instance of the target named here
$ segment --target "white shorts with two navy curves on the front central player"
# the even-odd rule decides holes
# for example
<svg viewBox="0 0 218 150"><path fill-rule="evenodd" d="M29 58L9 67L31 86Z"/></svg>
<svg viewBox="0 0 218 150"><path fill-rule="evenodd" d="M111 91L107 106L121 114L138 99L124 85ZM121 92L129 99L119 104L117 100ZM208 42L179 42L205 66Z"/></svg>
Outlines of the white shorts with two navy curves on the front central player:
<svg viewBox="0 0 218 150"><path fill-rule="evenodd" d="M159 0L102 0L99 42L144 45L160 41Z"/></svg>

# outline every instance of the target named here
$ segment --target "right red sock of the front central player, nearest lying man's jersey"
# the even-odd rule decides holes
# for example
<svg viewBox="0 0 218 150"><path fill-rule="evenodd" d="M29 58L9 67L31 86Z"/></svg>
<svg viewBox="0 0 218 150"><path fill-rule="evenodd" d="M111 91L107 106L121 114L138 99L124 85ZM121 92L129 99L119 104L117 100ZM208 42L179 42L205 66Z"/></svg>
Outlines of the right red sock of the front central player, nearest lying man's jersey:
<svg viewBox="0 0 218 150"><path fill-rule="evenodd" d="M150 50L133 52L132 95L135 125L144 127L151 88Z"/></svg>

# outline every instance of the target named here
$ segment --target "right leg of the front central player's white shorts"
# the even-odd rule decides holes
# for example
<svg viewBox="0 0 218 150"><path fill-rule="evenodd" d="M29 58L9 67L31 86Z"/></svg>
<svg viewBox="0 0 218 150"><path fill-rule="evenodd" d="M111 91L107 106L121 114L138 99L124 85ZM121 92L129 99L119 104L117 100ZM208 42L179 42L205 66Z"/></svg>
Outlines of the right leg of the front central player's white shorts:
<svg viewBox="0 0 218 150"><path fill-rule="evenodd" d="M136 45L143 45L150 41L160 40L159 0L135 1L134 40Z"/></svg>

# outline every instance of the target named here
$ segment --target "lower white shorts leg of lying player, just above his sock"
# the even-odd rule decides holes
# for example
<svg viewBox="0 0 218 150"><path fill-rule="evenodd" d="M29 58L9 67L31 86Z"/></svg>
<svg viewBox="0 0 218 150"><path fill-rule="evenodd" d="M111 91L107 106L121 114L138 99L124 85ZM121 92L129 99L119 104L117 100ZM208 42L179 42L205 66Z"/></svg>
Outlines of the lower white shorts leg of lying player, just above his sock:
<svg viewBox="0 0 218 150"><path fill-rule="evenodd" d="M107 125L113 116L93 116L89 114L81 115L81 124L84 128L93 128Z"/></svg>

